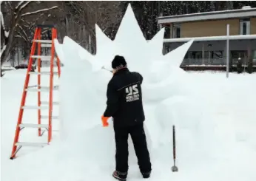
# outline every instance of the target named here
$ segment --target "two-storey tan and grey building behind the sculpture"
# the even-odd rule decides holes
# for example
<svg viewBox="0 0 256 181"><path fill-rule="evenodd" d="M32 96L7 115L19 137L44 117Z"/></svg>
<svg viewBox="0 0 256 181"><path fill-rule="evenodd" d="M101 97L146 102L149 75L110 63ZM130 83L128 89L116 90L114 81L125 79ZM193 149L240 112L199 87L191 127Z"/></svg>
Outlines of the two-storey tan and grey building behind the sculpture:
<svg viewBox="0 0 256 181"><path fill-rule="evenodd" d="M229 61L233 65L238 59L247 64L249 58L256 64L256 8L162 16L158 17L158 25L166 28L164 52L194 38L183 65L226 65L228 38Z"/></svg>

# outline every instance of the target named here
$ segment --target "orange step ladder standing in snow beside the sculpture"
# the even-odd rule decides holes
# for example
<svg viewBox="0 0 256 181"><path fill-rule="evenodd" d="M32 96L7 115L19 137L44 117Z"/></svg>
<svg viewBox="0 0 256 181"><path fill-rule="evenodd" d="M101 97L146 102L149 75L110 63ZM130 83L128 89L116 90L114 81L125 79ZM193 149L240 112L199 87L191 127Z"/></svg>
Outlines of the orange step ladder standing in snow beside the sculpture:
<svg viewBox="0 0 256 181"><path fill-rule="evenodd" d="M41 40L41 32L42 30L47 29L51 31L52 38L51 40ZM49 34L50 35L50 34ZM58 75L58 78L61 74L61 63L59 61L58 56L55 56L55 47L54 47L54 39L57 38L57 30L54 25L37 25L36 31L33 38L33 44L30 52L30 59L27 66L27 74L24 83L23 94L21 98L21 106L18 113L18 123L16 126L16 134L13 142L13 150L10 159L13 160L16 157L17 152L20 150L22 146L47 146L52 139L52 119L58 119L57 116L53 116L53 104L58 105L58 102L53 102L53 90L57 90L58 86L53 86L53 75ZM37 47L37 55L35 55ZM41 55L41 47L51 48L51 55L45 56ZM33 70L33 62L37 59L37 72ZM50 72L41 72L41 61L50 61ZM54 61L56 61L58 66L58 72L53 72L54 69ZM30 75L37 75L38 85L29 86ZM41 75L50 76L50 86L41 86ZM36 89L35 89L36 88ZM38 103L37 106L25 106L27 92L38 92ZM49 92L49 102L41 101L41 92ZM48 106L44 106L48 105ZM24 109L35 109L38 112L38 123L22 123L22 117ZM49 109L49 115L41 115L42 109ZM41 119L48 119L47 124L41 124ZM19 134L21 129L24 128L36 128L38 129L38 136L40 137L43 133L41 133L41 129L46 129L48 131L48 140L47 143L26 143L26 142L18 142Z"/></svg>

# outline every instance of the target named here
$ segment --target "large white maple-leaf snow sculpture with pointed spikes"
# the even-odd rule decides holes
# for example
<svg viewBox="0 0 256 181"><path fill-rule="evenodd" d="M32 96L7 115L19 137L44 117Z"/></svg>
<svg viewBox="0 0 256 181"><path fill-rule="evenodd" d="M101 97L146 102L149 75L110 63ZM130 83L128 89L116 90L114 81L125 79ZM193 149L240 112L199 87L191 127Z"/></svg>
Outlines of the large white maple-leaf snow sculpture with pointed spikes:
<svg viewBox="0 0 256 181"><path fill-rule="evenodd" d="M91 55L68 37L64 38L63 44L55 40L55 50L64 64L60 86L61 134L65 142L72 145L69 149L74 151L75 155L90 155L87 162L97 160L99 166L107 166L113 165L115 160L112 121L110 120L110 128L103 129L100 119L106 108L107 83L112 75L102 67L111 69L114 56L124 55L129 69L138 71L144 76L145 103L149 101L160 103L161 100L172 95L173 92L169 91L170 87L180 81L178 79L184 74L179 66L193 41L163 55L164 29L160 30L152 40L146 41L130 5L114 41L107 38L97 25L95 30L96 55ZM149 127L154 127L157 120L147 116L149 113L146 109L145 112L149 122L147 124L150 125L151 122L152 126ZM152 143L155 137L154 130L149 130L145 126L145 131L150 151L152 144L154 147L158 144ZM99 152L96 153L95 150ZM110 157L101 157L101 150ZM130 138L129 152L129 163L137 164Z"/></svg>

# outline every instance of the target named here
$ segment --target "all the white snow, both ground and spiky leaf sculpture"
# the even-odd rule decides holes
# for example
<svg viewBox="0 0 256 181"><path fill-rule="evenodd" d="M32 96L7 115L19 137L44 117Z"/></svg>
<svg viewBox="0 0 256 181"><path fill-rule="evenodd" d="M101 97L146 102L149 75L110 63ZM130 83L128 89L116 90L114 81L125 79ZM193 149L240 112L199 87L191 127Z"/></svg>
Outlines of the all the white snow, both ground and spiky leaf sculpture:
<svg viewBox="0 0 256 181"><path fill-rule="evenodd" d="M144 126L152 159L149 180L256 180L256 75L231 73L226 78L224 72L184 72L178 65L192 41L161 55L162 30L151 41L145 41L134 18L128 7L114 41L96 27L96 55L90 55L68 37L63 44L55 41L64 67L61 78L56 76L54 80L60 85L59 92L53 94L60 106L53 107L53 115L60 115L60 119L53 121L53 141L44 148L21 148L15 160L10 160L10 152L26 70L6 72L0 79L3 181L114 180L112 121L104 128L101 115L106 108L107 83L112 77L106 69L110 69L115 54L124 55L129 69L144 76ZM128 30L134 31L132 35L124 32L128 24ZM149 51L150 56L146 55ZM41 85L47 86L49 77L41 78ZM30 86L36 84L37 77L32 75ZM47 100L47 93L41 99ZM36 103L36 92L29 92L26 104ZM25 110L23 120L36 123L37 112ZM171 171L173 124L179 168L175 173ZM47 132L38 137L36 129L24 129L21 141L47 142ZM130 139L127 180L142 180Z"/></svg>

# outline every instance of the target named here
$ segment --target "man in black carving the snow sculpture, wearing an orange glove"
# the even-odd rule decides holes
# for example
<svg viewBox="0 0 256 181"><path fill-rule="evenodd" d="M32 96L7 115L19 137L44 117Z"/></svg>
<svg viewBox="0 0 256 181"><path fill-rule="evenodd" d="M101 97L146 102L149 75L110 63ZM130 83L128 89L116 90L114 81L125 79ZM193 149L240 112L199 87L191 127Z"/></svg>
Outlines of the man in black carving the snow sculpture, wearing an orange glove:
<svg viewBox="0 0 256 181"><path fill-rule="evenodd" d="M129 72L124 57L116 55L112 61L113 77L107 86L107 109L101 117L103 126L113 117L115 131L115 171L112 176L118 180L127 179L128 135L132 137L138 165L144 178L149 178L151 163L144 132L144 109L141 83L138 72Z"/></svg>

